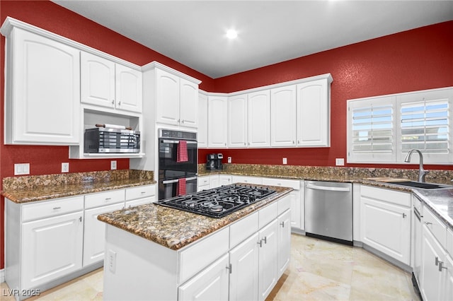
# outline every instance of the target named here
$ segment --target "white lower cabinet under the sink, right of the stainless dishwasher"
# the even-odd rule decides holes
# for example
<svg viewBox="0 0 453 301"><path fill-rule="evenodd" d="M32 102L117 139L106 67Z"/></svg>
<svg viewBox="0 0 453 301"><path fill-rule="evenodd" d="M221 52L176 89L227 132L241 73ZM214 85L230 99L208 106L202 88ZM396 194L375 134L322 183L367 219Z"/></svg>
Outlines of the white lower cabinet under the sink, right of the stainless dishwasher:
<svg viewBox="0 0 453 301"><path fill-rule="evenodd" d="M401 263L411 259L411 194L360 187L361 240Z"/></svg>

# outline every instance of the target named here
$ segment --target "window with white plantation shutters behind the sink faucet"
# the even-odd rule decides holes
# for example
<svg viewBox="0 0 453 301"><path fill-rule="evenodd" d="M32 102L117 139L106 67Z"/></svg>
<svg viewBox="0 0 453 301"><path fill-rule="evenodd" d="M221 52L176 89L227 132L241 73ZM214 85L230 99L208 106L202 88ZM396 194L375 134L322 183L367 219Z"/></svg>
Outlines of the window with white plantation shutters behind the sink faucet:
<svg viewBox="0 0 453 301"><path fill-rule="evenodd" d="M452 164L453 88L348 100L348 163ZM412 163L418 163L413 158Z"/></svg>

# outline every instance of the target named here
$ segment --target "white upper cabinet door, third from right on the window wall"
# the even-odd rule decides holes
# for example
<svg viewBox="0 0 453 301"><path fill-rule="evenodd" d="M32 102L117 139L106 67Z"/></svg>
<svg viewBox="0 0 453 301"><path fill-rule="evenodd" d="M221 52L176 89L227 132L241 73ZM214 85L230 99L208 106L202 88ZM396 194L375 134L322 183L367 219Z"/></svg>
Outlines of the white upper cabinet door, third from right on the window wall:
<svg viewBox="0 0 453 301"><path fill-rule="evenodd" d="M270 146L270 90L248 94L248 146Z"/></svg>

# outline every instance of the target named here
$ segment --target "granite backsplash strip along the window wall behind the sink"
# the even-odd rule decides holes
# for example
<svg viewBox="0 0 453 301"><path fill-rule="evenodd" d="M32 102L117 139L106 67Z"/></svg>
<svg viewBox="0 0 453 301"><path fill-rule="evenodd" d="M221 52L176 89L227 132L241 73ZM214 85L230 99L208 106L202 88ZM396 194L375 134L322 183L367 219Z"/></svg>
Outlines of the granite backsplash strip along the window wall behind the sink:
<svg viewBox="0 0 453 301"><path fill-rule="evenodd" d="M259 164L224 164L223 173L231 175L251 175L260 177L319 177L335 176L345 178L396 177L417 181L418 170L374 167L316 167L300 165L259 165ZM198 165L198 173L209 173L205 164ZM426 182L453 184L453 170L430 170Z"/></svg>

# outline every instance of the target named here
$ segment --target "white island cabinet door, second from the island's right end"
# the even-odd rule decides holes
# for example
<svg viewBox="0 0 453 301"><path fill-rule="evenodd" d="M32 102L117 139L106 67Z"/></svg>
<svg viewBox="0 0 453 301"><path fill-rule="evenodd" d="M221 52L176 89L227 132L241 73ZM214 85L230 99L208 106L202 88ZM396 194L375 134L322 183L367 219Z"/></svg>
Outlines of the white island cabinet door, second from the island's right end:
<svg viewBox="0 0 453 301"><path fill-rule="evenodd" d="M277 283L278 276L278 223L270 222L259 232L258 300L265 300Z"/></svg>

